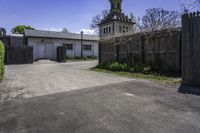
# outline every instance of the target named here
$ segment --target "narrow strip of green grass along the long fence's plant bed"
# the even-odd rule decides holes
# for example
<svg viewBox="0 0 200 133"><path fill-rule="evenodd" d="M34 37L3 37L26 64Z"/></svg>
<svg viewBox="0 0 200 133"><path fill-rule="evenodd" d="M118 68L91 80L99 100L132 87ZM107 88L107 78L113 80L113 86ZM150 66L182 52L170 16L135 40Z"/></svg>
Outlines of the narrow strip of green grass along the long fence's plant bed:
<svg viewBox="0 0 200 133"><path fill-rule="evenodd" d="M160 83L169 83L169 84L181 84L181 77L168 77L168 76L162 76L162 75L156 75L156 74L143 74L143 73L130 73L130 72L122 72L122 71L109 71L106 69L100 69L100 68L93 68L92 70L97 72L104 72L104 73L110 73L115 74L119 76L126 76L130 78L139 78L139 79L147 79L155 82Z"/></svg>

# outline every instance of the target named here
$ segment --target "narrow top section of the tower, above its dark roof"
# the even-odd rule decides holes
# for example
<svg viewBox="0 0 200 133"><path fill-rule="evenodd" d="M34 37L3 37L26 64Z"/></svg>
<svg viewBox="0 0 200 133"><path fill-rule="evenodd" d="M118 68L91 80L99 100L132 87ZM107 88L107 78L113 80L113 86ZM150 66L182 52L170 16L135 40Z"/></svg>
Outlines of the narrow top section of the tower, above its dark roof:
<svg viewBox="0 0 200 133"><path fill-rule="evenodd" d="M109 0L111 13L122 13L122 0Z"/></svg>

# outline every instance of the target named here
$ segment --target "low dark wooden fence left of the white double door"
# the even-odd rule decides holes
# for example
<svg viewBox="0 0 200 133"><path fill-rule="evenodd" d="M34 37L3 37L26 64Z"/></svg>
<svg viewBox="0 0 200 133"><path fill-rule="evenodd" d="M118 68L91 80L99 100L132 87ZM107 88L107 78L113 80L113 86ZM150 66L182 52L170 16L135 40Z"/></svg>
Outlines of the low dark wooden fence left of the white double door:
<svg viewBox="0 0 200 133"><path fill-rule="evenodd" d="M5 54L6 64L33 63L33 47L30 46L7 46Z"/></svg>

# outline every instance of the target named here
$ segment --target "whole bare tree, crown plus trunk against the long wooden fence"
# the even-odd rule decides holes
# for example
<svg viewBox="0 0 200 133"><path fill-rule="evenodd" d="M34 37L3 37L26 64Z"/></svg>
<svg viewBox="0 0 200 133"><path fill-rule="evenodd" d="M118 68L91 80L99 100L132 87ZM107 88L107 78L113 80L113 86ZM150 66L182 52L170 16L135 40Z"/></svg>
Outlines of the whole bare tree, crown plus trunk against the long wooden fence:
<svg viewBox="0 0 200 133"><path fill-rule="evenodd" d="M181 27L181 14L161 8L148 9L142 18L137 19L136 26L139 32L151 32L150 36L147 35L146 38L151 42L149 47L154 56L154 65L161 66L161 44L163 42L156 38L157 31L170 31L173 28Z"/></svg>

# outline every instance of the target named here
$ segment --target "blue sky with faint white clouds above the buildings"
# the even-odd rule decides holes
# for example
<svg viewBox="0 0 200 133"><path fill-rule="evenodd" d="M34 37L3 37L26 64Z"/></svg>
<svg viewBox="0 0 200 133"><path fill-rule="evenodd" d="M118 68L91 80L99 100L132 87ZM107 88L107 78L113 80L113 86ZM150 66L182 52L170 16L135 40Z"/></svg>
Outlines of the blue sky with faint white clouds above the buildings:
<svg viewBox="0 0 200 133"><path fill-rule="evenodd" d="M148 8L180 11L180 3L192 0L123 0L123 12L136 17ZM93 34L90 23L93 16L109 10L108 0L0 0L0 27L7 33L16 25L30 25L36 29L70 32L83 30Z"/></svg>

